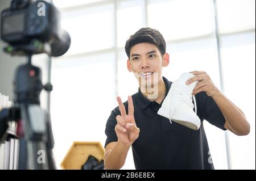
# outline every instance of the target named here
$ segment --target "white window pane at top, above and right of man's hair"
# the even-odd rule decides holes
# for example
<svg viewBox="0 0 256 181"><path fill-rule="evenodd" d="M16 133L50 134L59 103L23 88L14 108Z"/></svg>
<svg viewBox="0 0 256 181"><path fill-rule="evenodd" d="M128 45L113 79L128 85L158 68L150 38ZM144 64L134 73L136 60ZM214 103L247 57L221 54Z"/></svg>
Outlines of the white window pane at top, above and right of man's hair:
<svg viewBox="0 0 256 181"><path fill-rule="evenodd" d="M153 3L154 2L154 3ZM203 36L213 32L209 0L151 1L148 25L168 40Z"/></svg>

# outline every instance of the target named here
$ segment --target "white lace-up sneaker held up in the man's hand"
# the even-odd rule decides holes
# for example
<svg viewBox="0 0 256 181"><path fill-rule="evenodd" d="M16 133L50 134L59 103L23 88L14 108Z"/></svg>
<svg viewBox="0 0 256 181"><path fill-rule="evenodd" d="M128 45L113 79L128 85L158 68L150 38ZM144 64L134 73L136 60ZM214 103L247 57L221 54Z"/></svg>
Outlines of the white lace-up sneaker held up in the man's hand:
<svg viewBox="0 0 256 181"><path fill-rule="evenodd" d="M183 73L179 79L174 81L171 85L171 89L164 99L161 108L158 110L158 115L164 116L170 121L175 121L185 127L198 130L201 125L199 117L196 112L193 111L194 105L192 102L192 91L197 82L193 82L186 85L186 81L193 77L192 73ZM195 96L195 110L196 99Z"/></svg>

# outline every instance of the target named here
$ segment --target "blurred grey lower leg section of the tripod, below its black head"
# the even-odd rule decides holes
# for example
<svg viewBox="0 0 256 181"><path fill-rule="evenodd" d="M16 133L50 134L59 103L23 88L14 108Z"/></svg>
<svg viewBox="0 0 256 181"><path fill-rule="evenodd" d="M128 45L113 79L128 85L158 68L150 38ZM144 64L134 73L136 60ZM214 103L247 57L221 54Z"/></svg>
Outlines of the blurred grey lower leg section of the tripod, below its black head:
<svg viewBox="0 0 256 181"><path fill-rule="evenodd" d="M24 144L20 144L20 150L23 149L27 153L26 164L22 162L22 155L19 157L20 164L27 166L26 169L49 169L44 111L39 105L27 106L23 104L20 105L20 112L24 123L24 140L26 140ZM26 149L22 148L22 145Z"/></svg>

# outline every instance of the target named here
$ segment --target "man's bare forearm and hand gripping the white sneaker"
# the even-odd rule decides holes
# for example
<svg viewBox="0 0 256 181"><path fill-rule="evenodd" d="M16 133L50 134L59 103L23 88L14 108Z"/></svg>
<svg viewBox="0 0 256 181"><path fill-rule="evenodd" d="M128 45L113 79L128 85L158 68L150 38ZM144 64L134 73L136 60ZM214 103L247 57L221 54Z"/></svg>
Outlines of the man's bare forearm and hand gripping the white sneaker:
<svg viewBox="0 0 256 181"><path fill-rule="evenodd" d="M220 90L214 85L209 75L204 71L192 71L195 77L192 77L187 81L189 83L198 81L192 95L195 95L201 91L205 91L208 96L211 96L216 102L218 108L222 112L226 123L224 127L229 131L237 134L238 136L247 135L250 133L250 124L246 120L243 112L234 105Z"/></svg>

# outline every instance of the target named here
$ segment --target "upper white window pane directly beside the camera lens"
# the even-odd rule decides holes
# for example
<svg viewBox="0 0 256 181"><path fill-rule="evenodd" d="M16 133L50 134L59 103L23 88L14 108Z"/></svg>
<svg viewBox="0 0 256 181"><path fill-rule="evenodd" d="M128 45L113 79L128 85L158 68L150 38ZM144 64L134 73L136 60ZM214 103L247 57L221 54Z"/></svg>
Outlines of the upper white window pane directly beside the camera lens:
<svg viewBox="0 0 256 181"><path fill-rule="evenodd" d="M113 24L113 5L63 12L62 27L71 35L67 54L112 48Z"/></svg>

